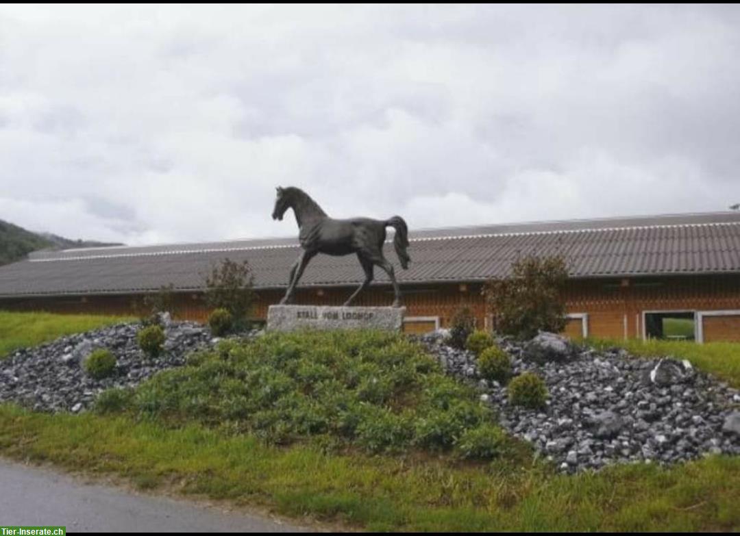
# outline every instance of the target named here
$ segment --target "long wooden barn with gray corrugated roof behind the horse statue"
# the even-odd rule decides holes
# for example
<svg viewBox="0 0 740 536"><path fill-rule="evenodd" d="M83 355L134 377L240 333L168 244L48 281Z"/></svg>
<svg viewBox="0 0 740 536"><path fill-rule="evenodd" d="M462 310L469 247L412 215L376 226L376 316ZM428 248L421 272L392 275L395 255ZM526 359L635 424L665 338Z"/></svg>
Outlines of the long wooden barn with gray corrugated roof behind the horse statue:
<svg viewBox="0 0 740 536"><path fill-rule="evenodd" d="M693 322L698 342L740 341L740 212L440 228L412 231L410 239L408 271L386 244L406 330L445 327L463 305L488 326L483 282L506 274L521 255L562 254L571 335L664 336L666 319L677 319ZM0 309L132 314L137 299L172 284L176 315L203 320L204 276L228 257L249 261L254 314L263 319L298 253L288 238L41 251L0 267ZM375 276L356 305L390 305L388 279L377 269ZM340 305L362 279L356 257L320 255L303 275L297 303Z"/></svg>

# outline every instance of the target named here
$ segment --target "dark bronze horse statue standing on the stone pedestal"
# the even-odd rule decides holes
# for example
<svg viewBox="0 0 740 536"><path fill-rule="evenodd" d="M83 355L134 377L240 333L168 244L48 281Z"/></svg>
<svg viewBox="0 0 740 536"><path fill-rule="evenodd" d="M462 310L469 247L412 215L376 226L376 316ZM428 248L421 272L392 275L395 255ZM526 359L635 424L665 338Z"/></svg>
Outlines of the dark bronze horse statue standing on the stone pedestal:
<svg viewBox="0 0 740 536"><path fill-rule="evenodd" d="M289 188L277 187L275 209L272 211L273 220L283 220L288 208L292 208L295 220L298 223L298 240L303 251L290 269L290 284L288 290L280 300L280 304L291 303L295 287L298 284L303 270L311 259L318 253L340 256L357 254L365 271L365 281L344 302L349 305L352 300L366 288L373 279L374 266L380 266L391 278L395 299L393 307L400 307L401 293L398 289L396 276L386 257L383 257L383 242L386 241L386 227L396 230L393 243L401 266L408 268L408 228L400 216L388 220L371 220L370 218L352 218L351 220L334 220L326 215L318 204L305 191L292 186Z"/></svg>

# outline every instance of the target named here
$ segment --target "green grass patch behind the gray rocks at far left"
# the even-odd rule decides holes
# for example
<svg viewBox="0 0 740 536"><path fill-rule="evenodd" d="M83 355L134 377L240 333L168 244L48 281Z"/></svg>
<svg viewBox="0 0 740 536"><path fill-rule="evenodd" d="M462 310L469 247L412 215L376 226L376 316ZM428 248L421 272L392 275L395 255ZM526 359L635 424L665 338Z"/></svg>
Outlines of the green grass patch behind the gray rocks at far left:
<svg viewBox="0 0 740 536"><path fill-rule="evenodd" d="M128 320L132 319L123 316L0 311L0 359L18 348L40 345L63 335Z"/></svg>

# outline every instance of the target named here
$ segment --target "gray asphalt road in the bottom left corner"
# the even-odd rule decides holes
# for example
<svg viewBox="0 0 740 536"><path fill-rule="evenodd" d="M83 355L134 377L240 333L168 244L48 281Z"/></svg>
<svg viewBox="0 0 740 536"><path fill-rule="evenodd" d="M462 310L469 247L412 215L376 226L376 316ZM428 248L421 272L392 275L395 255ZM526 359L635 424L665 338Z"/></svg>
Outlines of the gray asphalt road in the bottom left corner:
<svg viewBox="0 0 740 536"><path fill-rule="evenodd" d="M85 484L70 475L0 460L0 526L66 526L67 532L296 532L255 515Z"/></svg>

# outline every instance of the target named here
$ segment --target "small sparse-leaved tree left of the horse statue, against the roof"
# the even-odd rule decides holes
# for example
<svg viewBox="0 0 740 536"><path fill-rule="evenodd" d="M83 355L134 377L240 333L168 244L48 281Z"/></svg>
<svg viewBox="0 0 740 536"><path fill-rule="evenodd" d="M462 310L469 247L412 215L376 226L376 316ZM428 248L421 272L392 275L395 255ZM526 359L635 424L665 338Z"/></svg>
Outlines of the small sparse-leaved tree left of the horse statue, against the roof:
<svg viewBox="0 0 740 536"><path fill-rule="evenodd" d="M255 302L254 276L249 262L223 259L206 275L206 304L229 311L236 328L242 328Z"/></svg>

